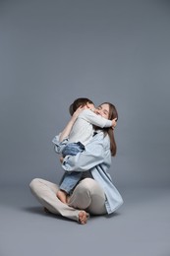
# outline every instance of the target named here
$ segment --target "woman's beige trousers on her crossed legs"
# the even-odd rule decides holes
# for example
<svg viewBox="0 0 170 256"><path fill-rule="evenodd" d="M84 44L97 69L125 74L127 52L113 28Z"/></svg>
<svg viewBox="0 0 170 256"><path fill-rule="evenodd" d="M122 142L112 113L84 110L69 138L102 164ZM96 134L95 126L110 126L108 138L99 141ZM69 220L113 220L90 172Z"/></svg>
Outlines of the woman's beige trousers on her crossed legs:
<svg viewBox="0 0 170 256"><path fill-rule="evenodd" d="M92 178L83 179L73 191L68 205L57 197L58 185L44 179L35 178L29 184L31 193L49 212L79 222L79 213L85 210L91 215L104 215L105 194Z"/></svg>

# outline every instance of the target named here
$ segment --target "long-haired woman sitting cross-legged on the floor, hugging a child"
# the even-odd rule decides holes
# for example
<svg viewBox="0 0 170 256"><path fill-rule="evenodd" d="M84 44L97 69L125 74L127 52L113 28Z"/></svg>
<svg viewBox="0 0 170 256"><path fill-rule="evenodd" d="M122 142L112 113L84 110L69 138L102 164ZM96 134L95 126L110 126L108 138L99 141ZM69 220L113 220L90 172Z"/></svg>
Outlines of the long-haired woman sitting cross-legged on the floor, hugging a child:
<svg viewBox="0 0 170 256"><path fill-rule="evenodd" d="M114 105L104 102L97 108L97 114L109 120L118 118ZM105 215L116 211L123 199L112 183L108 168L111 156L116 155L116 143L112 128L97 128L85 151L76 156L67 156L62 167L65 171L82 171L84 178L68 199L62 203L57 197L58 185L35 178L30 190L37 200L51 213L85 224L89 214Z"/></svg>

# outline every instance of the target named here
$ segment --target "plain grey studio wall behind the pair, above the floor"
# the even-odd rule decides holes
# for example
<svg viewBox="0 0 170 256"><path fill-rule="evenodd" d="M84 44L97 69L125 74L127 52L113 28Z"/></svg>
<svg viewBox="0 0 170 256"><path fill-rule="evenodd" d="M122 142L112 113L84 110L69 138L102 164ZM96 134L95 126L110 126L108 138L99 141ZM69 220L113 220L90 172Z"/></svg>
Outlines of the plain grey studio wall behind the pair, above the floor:
<svg viewBox="0 0 170 256"><path fill-rule="evenodd" d="M1 1L1 183L62 172L52 138L79 96L119 111L111 174L169 185L168 1Z"/></svg>

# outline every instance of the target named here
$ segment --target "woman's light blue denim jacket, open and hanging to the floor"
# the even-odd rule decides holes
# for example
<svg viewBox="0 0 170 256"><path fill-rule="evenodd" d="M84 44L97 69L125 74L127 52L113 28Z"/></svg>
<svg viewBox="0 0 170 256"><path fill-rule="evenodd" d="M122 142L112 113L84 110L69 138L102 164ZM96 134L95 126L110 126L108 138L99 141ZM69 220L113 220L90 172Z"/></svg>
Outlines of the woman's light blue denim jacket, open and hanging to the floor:
<svg viewBox="0 0 170 256"><path fill-rule="evenodd" d="M62 148L68 143L68 139L59 142L59 135L52 140L54 150L60 154ZM62 167L66 171L86 171L91 172L92 177L103 188L106 196L105 206L108 214L116 211L122 204L123 199L112 183L112 178L108 173L111 165L110 141L108 135L104 136L101 130L85 145L85 151L77 156L66 156Z"/></svg>

